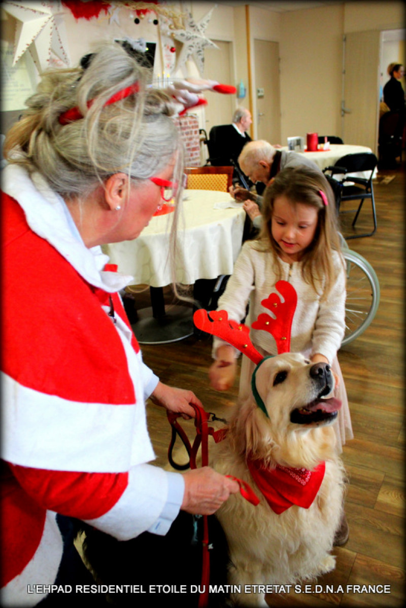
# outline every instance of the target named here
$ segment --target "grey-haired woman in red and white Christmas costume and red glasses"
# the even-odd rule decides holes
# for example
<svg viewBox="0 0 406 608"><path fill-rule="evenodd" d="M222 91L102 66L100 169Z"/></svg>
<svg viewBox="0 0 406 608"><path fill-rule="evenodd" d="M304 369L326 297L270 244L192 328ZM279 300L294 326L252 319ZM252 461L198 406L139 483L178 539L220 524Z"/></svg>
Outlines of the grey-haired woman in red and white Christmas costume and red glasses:
<svg viewBox="0 0 406 608"><path fill-rule="evenodd" d="M60 522L164 537L180 511L212 514L239 490L208 467L149 464L145 401L186 418L200 401L142 361L118 294L132 277L100 248L137 238L164 188L178 213L174 100L146 80L120 44L103 44L86 66L44 72L5 139L2 605L47 601L66 582Z"/></svg>

